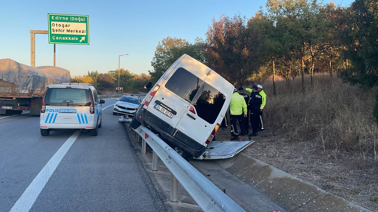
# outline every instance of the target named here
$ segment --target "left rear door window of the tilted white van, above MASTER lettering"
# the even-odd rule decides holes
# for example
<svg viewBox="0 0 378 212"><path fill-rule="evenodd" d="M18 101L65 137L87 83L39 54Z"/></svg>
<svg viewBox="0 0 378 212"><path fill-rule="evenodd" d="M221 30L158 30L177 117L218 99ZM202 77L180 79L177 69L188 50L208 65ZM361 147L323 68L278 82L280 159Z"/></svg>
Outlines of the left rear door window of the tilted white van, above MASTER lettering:
<svg viewBox="0 0 378 212"><path fill-rule="evenodd" d="M184 100L191 102L201 87L203 80L184 68L178 68L169 78L165 87Z"/></svg>

